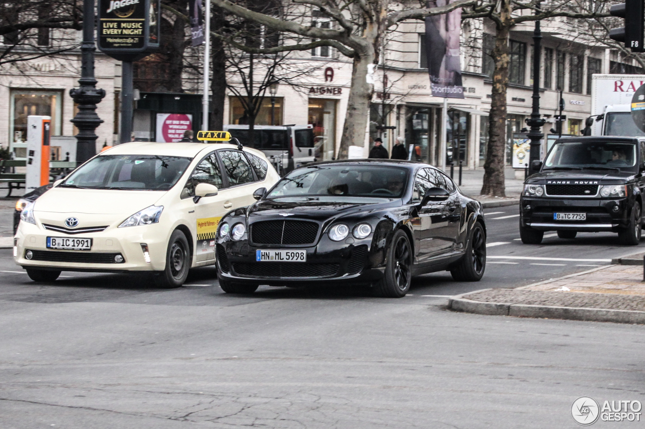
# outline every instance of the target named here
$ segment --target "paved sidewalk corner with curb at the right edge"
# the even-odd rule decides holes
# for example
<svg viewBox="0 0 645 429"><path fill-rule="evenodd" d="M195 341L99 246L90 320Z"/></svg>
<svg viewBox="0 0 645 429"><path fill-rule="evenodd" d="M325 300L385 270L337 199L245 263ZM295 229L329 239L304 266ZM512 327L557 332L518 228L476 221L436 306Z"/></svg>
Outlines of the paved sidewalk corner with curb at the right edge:
<svg viewBox="0 0 645 429"><path fill-rule="evenodd" d="M451 298L448 306L477 314L645 324L643 267L606 265L516 289L479 290Z"/></svg>

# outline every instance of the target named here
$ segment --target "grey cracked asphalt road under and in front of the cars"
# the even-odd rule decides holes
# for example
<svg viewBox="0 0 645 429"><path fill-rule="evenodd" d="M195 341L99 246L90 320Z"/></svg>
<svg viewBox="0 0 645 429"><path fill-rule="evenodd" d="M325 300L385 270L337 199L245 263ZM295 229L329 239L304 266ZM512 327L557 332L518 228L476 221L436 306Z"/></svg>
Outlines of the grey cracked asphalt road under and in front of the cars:
<svg viewBox="0 0 645 429"><path fill-rule="evenodd" d="M0 250L0 428L575 428L582 395L644 401L644 326L444 308L639 248L613 234L521 244L517 208L487 210L487 226L499 244L481 282L424 275L402 299L238 297L210 268L176 290L70 272L36 284Z"/></svg>

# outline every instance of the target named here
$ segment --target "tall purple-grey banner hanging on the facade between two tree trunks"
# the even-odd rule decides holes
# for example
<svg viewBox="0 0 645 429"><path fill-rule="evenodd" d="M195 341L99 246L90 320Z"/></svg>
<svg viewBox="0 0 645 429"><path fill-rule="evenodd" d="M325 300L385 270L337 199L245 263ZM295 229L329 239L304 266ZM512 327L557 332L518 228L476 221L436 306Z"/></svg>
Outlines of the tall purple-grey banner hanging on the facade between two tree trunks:
<svg viewBox="0 0 645 429"><path fill-rule="evenodd" d="M428 7L445 6L453 1L456 0L430 0ZM461 8L426 17L426 58L434 97L464 98L459 64L460 36Z"/></svg>

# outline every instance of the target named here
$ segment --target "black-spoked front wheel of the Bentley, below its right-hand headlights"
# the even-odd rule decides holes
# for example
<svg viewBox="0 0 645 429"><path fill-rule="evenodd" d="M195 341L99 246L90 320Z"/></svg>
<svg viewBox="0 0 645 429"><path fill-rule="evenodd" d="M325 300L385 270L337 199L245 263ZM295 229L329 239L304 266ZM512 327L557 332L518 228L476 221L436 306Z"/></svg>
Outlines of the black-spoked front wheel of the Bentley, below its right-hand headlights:
<svg viewBox="0 0 645 429"><path fill-rule="evenodd" d="M373 291L379 297L401 298L410 290L411 281L412 246L408 235L398 230L388 249L383 278L373 285Z"/></svg>

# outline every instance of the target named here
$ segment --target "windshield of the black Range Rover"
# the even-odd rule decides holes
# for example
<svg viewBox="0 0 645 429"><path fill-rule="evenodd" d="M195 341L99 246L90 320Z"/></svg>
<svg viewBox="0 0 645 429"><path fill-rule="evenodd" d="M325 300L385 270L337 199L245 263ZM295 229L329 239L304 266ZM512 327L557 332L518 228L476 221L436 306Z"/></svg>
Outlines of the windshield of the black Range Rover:
<svg viewBox="0 0 645 429"><path fill-rule="evenodd" d="M562 141L551 148L543 170L631 170L637 159L634 143Z"/></svg>

